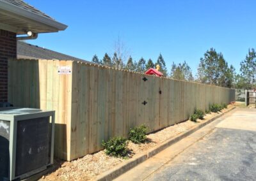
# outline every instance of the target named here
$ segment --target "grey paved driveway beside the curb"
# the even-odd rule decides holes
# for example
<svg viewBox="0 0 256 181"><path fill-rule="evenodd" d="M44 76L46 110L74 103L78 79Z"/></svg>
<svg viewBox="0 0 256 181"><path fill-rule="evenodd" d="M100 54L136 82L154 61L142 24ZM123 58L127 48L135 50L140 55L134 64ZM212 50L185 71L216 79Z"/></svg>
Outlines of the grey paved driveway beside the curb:
<svg viewBox="0 0 256 181"><path fill-rule="evenodd" d="M256 180L256 110L237 109L146 180Z"/></svg>

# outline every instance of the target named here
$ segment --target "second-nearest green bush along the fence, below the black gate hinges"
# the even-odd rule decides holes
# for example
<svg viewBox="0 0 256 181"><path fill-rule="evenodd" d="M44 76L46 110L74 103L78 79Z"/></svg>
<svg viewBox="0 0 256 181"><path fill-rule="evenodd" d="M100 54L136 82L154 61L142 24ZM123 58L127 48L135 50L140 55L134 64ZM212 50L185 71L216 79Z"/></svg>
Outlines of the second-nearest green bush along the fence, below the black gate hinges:
<svg viewBox="0 0 256 181"><path fill-rule="evenodd" d="M128 139L132 141L132 143L145 143L147 140L147 134L148 132L148 127L145 125L141 125L138 127L134 127L130 129L129 134L128 134Z"/></svg>

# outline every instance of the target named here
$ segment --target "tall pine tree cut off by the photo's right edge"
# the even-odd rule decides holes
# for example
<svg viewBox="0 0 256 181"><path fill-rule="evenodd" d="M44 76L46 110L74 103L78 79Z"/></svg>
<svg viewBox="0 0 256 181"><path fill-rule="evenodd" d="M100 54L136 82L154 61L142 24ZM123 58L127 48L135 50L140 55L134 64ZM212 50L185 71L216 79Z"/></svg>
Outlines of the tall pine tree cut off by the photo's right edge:
<svg viewBox="0 0 256 181"><path fill-rule="evenodd" d="M252 50L249 49L246 58L244 59L244 61L241 62L240 65L241 76L245 78L246 83L250 85L251 89L253 89L253 87L255 86L256 78L256 53L253 48Z"/></svg>

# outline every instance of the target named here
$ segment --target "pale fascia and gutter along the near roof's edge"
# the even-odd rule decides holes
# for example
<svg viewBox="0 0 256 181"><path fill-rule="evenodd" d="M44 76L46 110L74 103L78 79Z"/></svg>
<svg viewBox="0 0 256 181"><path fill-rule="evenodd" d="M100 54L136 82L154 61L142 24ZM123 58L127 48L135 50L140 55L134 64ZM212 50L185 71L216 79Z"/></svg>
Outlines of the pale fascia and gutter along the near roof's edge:
<svg viewBox="0 0 256 181"><path fill-rule="evenodd" d="M56 22L55 20L51 20L50 18L44 17L42 15L38 15L36 13L24 10L23 8L19 8L10 3L0 0L0 10L10 11L11 13L15 13L18 16L26 17L36 22L40 22L45 25L49 25L58 29L59 31L63 31L67 28L67 25L61 24L60 22Z"/></svg>

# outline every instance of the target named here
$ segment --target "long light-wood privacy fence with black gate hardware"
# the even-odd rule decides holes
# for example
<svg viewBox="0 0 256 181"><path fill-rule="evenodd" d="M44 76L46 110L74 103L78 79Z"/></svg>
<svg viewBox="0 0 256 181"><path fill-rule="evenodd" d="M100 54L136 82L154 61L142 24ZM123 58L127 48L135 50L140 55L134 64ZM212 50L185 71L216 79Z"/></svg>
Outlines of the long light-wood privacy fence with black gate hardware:
<svg viewBox="0 0 256 181"><path fill-rule="evenodd" d="M235 100L234 89L121 71L84 62L8 61L8 101L56 110L55 156L72 160L102 149L102 140L189 119L195 108ZM60 74L60 68L70 74ZM67 72L68 73L68 72Z"/></svg>

